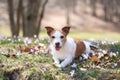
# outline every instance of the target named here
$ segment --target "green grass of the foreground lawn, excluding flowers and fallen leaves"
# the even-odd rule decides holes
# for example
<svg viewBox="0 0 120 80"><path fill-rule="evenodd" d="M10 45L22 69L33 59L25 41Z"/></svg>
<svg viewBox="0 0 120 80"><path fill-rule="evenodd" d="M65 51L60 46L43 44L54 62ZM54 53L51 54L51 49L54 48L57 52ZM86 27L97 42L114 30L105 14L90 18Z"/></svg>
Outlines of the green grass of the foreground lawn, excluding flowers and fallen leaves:
<svg viewBox="0 0 120 80"><path fill-rule="evenodd" d="M2 43L0 44L0 80L15 80L16 78L20 80L120 79L120 67L111 67L112 64L117 63L119 61L120 56L117 56L117 58L111 58L111 61L109 62L111 65L106 63L104 64L105 67L102 68L93 68L94 63L91 62L91 60L87 60L82 64L78 63L77 67L75 68L72 68L70 66L66 68L57 68L52 65L53 59L52 56L48 53L36 55L29 54L29 52L22 52L22 55L17 58L10 58L1 54L2 52L7 53L8 49L13 50L13 52L15 53L18 51L19 45L21 45L22 47L32 47L37 46L36 44L25 46L23 42L10 43L7 41L1 41L0 43ZM41 41L41 43L48 45L48 42L46 41ZM114 46L104 44L100 46L102 49L109 48L113 52L119 51L120 49L120 44ZM103 60L103 63L107 61L109 60ZM94 65L97 66L96 64ZM85 70L82 70L81 68L84 68ZM71 70L75 71L74 76L70 75Z"/></svg>

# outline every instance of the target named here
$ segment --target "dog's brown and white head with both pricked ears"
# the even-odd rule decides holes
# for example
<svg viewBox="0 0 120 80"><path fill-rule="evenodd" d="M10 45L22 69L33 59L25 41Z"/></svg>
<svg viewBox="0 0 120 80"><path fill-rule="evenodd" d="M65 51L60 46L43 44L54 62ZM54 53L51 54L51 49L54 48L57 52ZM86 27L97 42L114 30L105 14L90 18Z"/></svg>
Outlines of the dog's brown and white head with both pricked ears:
<svg viewBox="0 0 120 80"><path fill-rule="evenodd" d="M52 45L57 51L59 51L66 42L67 34L69 33L70 27L65 26L61 30L55 30L50 26L45 27L47 34L50 37Z"/></svg>

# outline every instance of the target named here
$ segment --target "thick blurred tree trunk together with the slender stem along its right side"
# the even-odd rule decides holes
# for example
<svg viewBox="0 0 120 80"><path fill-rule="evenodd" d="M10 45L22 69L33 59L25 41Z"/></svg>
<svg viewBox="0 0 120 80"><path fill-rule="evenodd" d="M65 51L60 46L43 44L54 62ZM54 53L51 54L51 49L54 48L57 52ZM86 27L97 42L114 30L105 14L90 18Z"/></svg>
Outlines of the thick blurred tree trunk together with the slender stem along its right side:
<svg viewBox="0 0 120 80"><path fill-rule="evenodd" d="M44 16L47 2L48 0L28 0L27 11L22 11L24 37L39 35L41 21Z"/></svg>

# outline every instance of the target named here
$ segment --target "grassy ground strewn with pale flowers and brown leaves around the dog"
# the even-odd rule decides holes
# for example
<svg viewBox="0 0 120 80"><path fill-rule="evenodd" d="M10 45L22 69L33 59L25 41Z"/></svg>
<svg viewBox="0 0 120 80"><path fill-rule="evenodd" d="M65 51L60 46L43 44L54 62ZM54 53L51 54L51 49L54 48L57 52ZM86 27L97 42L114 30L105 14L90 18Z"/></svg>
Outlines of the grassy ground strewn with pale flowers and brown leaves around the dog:
<svg viewBox="0 0 120 80"><path fill-rule="evenodd" d="M120 43L109 40L88 40L99 46L96 53L76 59L66 68L52 65L47 38L0 38L0 80L119 80Z"/></svg>

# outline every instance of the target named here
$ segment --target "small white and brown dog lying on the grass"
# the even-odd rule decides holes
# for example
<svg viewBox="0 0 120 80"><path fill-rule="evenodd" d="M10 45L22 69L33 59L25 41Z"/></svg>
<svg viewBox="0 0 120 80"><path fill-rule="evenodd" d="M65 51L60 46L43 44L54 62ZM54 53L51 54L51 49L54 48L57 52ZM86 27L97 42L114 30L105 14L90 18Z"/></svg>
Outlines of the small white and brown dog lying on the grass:
<svg viewBox="0 0 120 80"><path fill-rule="evenodd" d="M65 26L61 30L56 30L50 26L46 26L45 29L50 38L50 49L55 66L66 67L81 54L87 55L86 58L88 58L91 51L90 44L86 41L67 37L70 31L69 26Z"/></svg>

